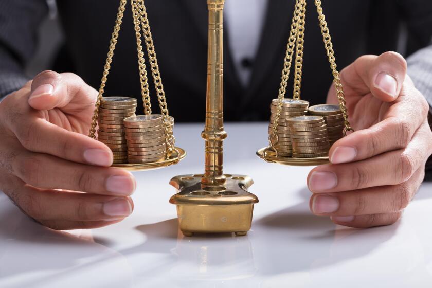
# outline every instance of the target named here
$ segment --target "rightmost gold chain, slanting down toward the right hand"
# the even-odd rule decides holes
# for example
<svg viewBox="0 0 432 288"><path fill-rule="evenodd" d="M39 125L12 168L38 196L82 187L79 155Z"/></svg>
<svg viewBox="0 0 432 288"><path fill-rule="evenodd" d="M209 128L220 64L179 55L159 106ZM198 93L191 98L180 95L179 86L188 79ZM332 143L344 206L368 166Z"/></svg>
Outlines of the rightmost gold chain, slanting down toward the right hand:
<svg viewBox="0 0 432 288"><path fill-rule="evenodd" d="M327 56L329 57L330 67L333 71L333 83L336 88L336 95L339 101L340 111L342 111L344 120L345 120L345 129L344 135L347 134L348 131L354 131L350 126L350 122L348 121L348 111L346 107L345 94L342 84L340 83L339 71L336 69L336 58L334 57L333 44L331 41L331 37L329 34L329 28L327 28L326 16L322 13L321 1L315 0L315 6L318 11L318 20L319 26L321 27L322 39L324 41L324 46L327 50Z"/></svg>

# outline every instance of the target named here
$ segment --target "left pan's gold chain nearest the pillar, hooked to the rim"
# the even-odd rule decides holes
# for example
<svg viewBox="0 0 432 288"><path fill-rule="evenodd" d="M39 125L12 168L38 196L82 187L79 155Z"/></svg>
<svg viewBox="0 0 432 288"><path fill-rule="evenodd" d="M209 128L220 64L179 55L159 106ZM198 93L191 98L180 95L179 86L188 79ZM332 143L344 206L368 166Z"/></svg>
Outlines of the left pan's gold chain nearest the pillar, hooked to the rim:
<svg viewBox="0 0 432 288"><path fill-rule="evenodd" d="M172 125L168 112L168 105L165 98L164 85L162 84L162 79L160 77L159 65L157 64L156 52L153 44L152 33L150 31L149 20L147 17L146 6L144 5L144 0L138 0L137 7L139 9L139 16L141 22L141 28L144 34L144 39L147 47L147 52L149 55L150 68L152 70L153 82L156 86L157 100L159 102L160 113L163 118L164 128L165 128L165 141L167 144L168 157L169 152L174 152L178 154L177 161L179 161L179 152L174 148L175 138L172 134Z"/></svg>

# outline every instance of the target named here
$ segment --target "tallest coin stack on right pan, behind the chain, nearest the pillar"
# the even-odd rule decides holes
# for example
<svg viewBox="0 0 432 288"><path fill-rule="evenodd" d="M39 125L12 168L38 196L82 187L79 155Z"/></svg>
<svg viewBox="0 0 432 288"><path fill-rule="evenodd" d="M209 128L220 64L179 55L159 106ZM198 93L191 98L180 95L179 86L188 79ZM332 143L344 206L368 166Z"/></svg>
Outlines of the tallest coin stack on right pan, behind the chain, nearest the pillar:
<svg viewBox="0 0 432 288"><path fill-rule="evenodd" d="M276 119L277 107L279 99L273 99L270 105L270 124L268 125L268 133L272 135L273 133L273 123ZM285 98L282 100L282 110L280 113L278 132L279 141L275 148L278 150L278 156L281 157L291 157L293 153L293 147L290 141L290 134L288 130L287 120L306 115L308 112L309 102L299 99L289 99Z"/></svg>

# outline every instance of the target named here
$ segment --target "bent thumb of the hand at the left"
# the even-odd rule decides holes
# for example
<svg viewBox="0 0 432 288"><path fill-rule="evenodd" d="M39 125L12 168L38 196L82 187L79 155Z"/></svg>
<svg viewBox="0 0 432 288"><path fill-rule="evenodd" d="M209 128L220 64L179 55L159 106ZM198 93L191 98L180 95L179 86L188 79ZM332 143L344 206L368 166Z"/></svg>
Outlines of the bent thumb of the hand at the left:
<svg viewBox="0 0 432 288"><path fill-rule="evenodd" d="M46 70L34 77L31 82L28 103L33 109L50 110L65 107L78 93L88 97L92 102L88 95L94 96L93 92L93 88L73 73L59 74Z"/></svg>

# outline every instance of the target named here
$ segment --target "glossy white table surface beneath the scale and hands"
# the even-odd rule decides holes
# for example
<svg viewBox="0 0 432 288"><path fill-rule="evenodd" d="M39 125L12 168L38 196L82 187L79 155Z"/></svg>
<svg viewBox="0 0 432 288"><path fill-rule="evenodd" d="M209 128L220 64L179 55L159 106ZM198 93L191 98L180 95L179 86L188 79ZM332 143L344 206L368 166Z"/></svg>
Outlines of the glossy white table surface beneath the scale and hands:
<svg viewBox="0 0 432 288"><path fill-rule="evenodd" d="M203 172L203 124L177 124L179 165L137 172L135 211L119 224L53 231L0 194L0 287L431 287L432 183L398 223L333 224L309 211L310 167L255 155L266 124L226 124L225 173L250 175L260 202L245 237L187 238L177 230L172 176Z"/></svg>

